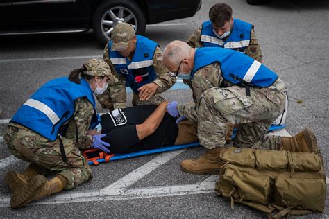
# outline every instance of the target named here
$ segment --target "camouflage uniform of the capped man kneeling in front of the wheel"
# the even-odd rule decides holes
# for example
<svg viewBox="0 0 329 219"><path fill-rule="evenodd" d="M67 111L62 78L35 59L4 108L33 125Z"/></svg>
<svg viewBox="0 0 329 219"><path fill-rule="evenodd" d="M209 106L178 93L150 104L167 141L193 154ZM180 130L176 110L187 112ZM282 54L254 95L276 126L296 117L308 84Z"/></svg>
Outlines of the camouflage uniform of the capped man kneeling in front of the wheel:
<svg viewBox="0 0 329 219"><path fill-rule="evenodd" d="M131 56L132 57L132 56ZM126 107L126 79L121 73L115 71L115 67L110 61L108 54L108 44L106 44L103 59L108 63L112 73L118 78L118 82L108 86L108 89L102 94L97 95L96 98L101 103L101 106L106 109L117 109ZM160 93L166 91L174 85L176 82L175 77L169 75L169 70L165 67L162 61L162 52L160 48L155 49L153 55L153 67L155 69L156 78L153 80L153 83L158 85L157 93L154 94L149 100L140 100L138 94L133 93L133 105L142 105L142 104L159 104L162 101L166 100L160 95Z"/></svg>

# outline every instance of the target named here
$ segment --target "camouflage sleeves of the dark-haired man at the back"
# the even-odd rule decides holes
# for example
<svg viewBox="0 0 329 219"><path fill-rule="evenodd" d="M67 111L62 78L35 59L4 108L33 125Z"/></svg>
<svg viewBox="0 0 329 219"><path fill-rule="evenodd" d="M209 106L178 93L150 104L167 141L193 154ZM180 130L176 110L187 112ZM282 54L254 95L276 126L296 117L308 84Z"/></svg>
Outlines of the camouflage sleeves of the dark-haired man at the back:
<svg viewBox="0 0 329 219"><path fill-rule="evenodd" d="M189 36L189 39L187 40L187 44L189 44L189 46L192 46L193 48L203 47L201 42L201 29L202 26L197 28L194 33ZM256 37L253 29L251 30L250 44L246 48L245 54L262 63L262 51L260 50L260 44L258 44L258 38Z"/></svg>

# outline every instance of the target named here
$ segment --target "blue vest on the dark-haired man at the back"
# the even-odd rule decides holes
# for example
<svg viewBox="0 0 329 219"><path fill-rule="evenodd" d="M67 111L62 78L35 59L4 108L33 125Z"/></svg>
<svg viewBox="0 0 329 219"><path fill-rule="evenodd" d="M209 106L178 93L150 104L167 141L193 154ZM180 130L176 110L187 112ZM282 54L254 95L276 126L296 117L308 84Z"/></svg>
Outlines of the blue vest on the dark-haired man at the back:
<svg viewBox="0 0 329 219"><path fill-rule="evenodd" d="M214 34L211 21L202 24L201 42L203 46L222 47L244 52L250 44L252 24L239 19L233 19L233 29L228 38L224 41Z"/></svg>

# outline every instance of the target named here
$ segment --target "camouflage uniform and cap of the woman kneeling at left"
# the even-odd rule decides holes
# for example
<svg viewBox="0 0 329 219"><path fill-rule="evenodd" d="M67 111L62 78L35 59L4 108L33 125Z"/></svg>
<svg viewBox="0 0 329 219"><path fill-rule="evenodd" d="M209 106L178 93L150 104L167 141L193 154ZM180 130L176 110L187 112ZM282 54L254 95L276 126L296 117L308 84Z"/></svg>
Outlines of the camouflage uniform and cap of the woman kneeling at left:
<svg viewBox="0 0 329 219"><path fill-rule="evenodd" d="M107 76L110 82L117 80L110 74L110 68L103 60L88 60L84 64L89 76ZM74 114L62 127L65 133L50 141L40 134L17 123L10 122L3 139L12 155L24 161L32 162L42 169L43 173L58 171L67 179L65 189L71 189L92 179L92 170L79 149L90 148L92 136L87 131L92 122L94 107L87 98L78 98L74 102ZM67 163L62 161L60 140L65 150Z"/></svg>

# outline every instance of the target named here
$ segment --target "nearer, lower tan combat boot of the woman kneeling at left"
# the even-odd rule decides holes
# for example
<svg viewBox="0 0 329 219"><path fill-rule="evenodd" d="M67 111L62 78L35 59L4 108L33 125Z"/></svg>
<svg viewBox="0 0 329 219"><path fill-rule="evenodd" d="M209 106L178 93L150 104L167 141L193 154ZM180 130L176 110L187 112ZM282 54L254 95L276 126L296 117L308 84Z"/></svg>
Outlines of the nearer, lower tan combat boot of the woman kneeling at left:
<svg viewBox="0 0 329 219"><path fill-rule="evenodd" d="M47 197L53 193L58 193L65 188L65 183L62 182L60 177L53 177L49 181L47 181L44 175L31 177L26 182L22 181L20 189L15 187L15 189L12 190L10 207L12 207L12 209L17 209L34 200Z"/></svg>

